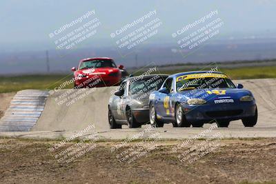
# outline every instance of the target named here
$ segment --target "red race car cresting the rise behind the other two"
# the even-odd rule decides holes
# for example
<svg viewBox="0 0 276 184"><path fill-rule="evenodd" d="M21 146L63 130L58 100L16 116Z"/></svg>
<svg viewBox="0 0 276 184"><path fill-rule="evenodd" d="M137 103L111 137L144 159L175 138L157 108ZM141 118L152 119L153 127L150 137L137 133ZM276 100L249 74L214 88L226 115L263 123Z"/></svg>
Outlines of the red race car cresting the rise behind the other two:
<svg viewBox="0 0 276 184"><path fill-rule="evenodd" d="M108 57L82 59L79 68L72 68L75 88L94 88L119 85L124 66ZM125 72L124 72L125 73Z"/></svg>

